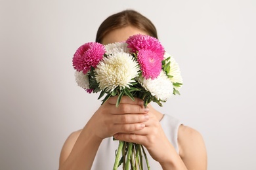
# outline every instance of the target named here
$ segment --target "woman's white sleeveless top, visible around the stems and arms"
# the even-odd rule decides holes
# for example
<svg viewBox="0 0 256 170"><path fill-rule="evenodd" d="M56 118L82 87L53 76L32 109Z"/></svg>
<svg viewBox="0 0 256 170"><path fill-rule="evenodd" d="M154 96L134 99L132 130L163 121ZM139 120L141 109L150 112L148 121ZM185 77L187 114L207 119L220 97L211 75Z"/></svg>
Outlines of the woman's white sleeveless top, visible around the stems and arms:
<svg viewBox="0 0 256 170"><path fill-rule="evenodd" d="M179 153L178 146L178 129L181 125L181 122L172 116L164 114L163 118L160 120L161 127L165 132L166 137L169 139L170 143L173 144L177 153ZM93 170L111 170L114 166L114 161L116 158L116 150L118 147L119 141L113 141L112 137L106 138L100 144L98 152L96 153L95 160L91 169ZM148 151L145 149L146 156L150 165L150 169L158 170L162 169L160 163L155 161ZM142 159L144 160L144 159ZM122 169L122 165L118 169ZM146 162L143 162L143 169L147 169Z"/></svg>

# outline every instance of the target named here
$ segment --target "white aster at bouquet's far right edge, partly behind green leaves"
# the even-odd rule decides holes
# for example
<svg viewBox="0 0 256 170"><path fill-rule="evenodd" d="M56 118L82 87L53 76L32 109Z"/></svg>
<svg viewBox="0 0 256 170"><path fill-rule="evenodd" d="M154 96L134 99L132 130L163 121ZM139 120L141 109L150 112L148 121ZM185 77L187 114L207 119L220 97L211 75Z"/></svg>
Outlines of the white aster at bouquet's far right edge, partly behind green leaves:
<svg viewBox="0 0 256 170"><path fill-rule="evenodd" d="M182 80L179 64L177 63L177 61L175 61L173 56L169 55L168 53L165 53L164 58L169 58L169 57L171 57L171 58L168 59L167 62L171 61L171 65L170 65L171 69L170 69L168 75L173 76L172 78L170 78L171 82L179 82L182 84L183 80ZM175 90L179 90L179 88L181 88L181 87L174 86L174 88L175 88Z"/></svg>

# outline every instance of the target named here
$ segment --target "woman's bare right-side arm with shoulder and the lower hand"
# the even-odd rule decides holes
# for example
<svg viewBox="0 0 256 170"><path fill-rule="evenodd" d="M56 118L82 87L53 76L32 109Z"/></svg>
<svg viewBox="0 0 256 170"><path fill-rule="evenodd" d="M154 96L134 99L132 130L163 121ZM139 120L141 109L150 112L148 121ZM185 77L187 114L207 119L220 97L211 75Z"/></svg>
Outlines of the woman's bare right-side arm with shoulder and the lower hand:
<svg viewBox="0 0 256 170"><path fill-rule="evenodd" d="M133 133L118 133L114 137L121 141L143 144L150 156L158 161L163 169L207 169L205 145L200 133L190 127L180 126L178 133L180 153L177 154L161 128L156 112L150 108L148 112L150 119L145 122L144 129Z"/></svg>

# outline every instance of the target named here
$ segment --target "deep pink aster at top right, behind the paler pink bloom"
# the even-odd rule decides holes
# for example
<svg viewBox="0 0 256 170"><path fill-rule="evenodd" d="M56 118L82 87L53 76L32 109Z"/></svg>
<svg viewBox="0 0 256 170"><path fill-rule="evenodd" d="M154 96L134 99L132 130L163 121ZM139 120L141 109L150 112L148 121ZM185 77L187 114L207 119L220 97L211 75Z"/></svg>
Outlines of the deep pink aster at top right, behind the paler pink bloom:
<svg viewBox="0 0 256 170"><path fill-rule="evenodd" d="M126 43L128 44L128 48L131 49L131 52L137 53L139 50L152 50L155 54L163 60L163 55L165 50L161 45L160 41L155 37L151 37L150 35L132 35L127 39Z"/></svg>

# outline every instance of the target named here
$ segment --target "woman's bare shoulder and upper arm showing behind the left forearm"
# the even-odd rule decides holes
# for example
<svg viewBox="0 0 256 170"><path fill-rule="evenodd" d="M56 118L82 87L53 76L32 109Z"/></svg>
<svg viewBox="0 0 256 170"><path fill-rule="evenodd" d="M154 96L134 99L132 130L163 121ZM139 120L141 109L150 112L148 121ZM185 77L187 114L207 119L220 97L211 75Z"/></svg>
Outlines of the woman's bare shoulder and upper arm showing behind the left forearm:
<svg viewBox="0 0 256 170"><path fill-rule="evenodd" d="M75 142L77 141L77 138L79 137L81 131L82 129L72 132L66 139L60 152L60 164L63 163L70 155L70 152L72 151L72 148L75 145Z"/></svg>

